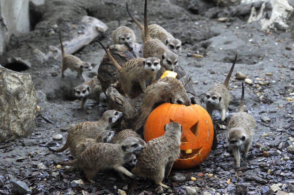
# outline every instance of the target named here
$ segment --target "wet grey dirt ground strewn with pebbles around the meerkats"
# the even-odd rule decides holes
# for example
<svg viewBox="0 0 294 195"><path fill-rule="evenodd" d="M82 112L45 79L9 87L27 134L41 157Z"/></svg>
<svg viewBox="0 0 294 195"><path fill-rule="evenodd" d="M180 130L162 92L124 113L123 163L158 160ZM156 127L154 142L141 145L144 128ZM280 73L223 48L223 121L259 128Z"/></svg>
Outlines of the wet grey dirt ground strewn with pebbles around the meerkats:
<svg viewBox="0 0 294 195"><path fill-rule="evenodd" d="M72 24L77 24L81 16L87 14L97 17L109 27L103 36L98 37L104 45L113 44L111 33L118 27L117 18L120 18L121 25L132 28L136 33L137 42L142 43L140 29L126 12L126 2L131 13L143 22L143 1L46 2L47 6L39 11L46 11L47 15L41 13L43 21L35 26L34 31L48 32L54 23L58 28L51 37L44 33L44 39L41 40L31 36L31 43L34 45L41 42L44 48L58 45L59 28L66 29L66 36L66 31L74 28ZM54 10L57 5L63 6L64 9ZM79 9L76 9L77 7ZM55 11L56 14L48 15L50 11ZM212 150L209 157L198 167L172 170L168 181L163 182L171 186L171 190L165 190L162 192L164 194L186 194L186 186L197 186L200 189L198 194L206 191L211 194L266 194L273 184L278 184L281 191L293 190L294 156L287 152L286 148L290 144L293 145L294 138L294 41L290 32L266 33L260 30L258 23L246 23L249 14L248 6L221 8L214 6L212 2L202 1L148 1L149 24L161 25L182 41L179 61L190 76L197 96L202 100L212 84L223 83L235 54L238 55L229 82L232 98L226 113L227 118L221 123L219 113L214 112L217 148ZM220 22L217 20L219 17L228 17L229 21ZM33 32L30 35L32 34ZM6 55L13 55L11 50L21 47L27 45L20 43L19 38L12 38ZM204 57L189 57L193 53ZM104 50L96 41L75 54L81 60L96 64L91 72L85 74L87 79L97 74L104 54ZM79 101L73 96L73 89L82 81L70 70L65 72L65 78L61 78L61 59L49 57L41 62L34 59L31 53L20 55L31 57L32 67L22 72L31 75L36 91L39 91L37 99L41 112L38 113L34 133L26 138L0 144L0 179L4 182L0 194L14 194L11 192L11 186L15 180L22 180L31 186L31 194L117 194L118 189L124 189L127 194L154 193L157 186L152 182L144 179L123 181L113 171L97 174L96 184L92 185L79 169L73 173L66 173L64 167L56 169L54 162L71 159L71 155L68 150L52 153L44 145L56 143L61 147L67 136L67 132L61 131L61 127L87 120L97 121L104 111L111 108L106 96L101 94L98 105L93 100L88 100L84 109L77 110ZM238 111L241 96L242 80L235 78L237 71L253 82L245 84L245 111L252 114L256 121L253 147L250 147L247 160L241 160L241 168L238 171L233 169L234 158L228 156L225 147L228 123L233 113ZM268 83L267 81L269 84L263 85ZM204 103L203 107L205 108ZM264 119L266 117L269 119ZM224 125L225 129L221 129L218 124ZM61 141L52 140L57 133L64 136ZM260 146L268 146L268 157L263 157ZM37 169L40 162L48 169ZM269 169L272 171L268 171ZM52 172L59 172L59 175L51 177ZM177 172L186 176L183 182L172 180L172 176ZM208 177L208 174L213 174L213 177ZM190 177L195 177L196 180L192 181ZM85 183L71 183L78 179L83 179Z"/></svg>

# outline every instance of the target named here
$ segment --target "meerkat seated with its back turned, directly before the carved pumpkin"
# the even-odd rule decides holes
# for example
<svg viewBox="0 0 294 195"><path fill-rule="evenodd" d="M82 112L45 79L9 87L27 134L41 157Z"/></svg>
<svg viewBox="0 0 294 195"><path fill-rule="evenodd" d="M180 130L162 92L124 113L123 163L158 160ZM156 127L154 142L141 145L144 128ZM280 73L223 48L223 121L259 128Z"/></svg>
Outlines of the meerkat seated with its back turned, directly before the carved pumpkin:
<svg viewBox="0 0 294 195"><path fill-rule="evenodd" d="M180 157L182 126L171 122L164 126L164 130L164 135L146 143L131 172L138 177L153 179L156 184L170 189L162 180L167 179L173 162Z"/></svg>

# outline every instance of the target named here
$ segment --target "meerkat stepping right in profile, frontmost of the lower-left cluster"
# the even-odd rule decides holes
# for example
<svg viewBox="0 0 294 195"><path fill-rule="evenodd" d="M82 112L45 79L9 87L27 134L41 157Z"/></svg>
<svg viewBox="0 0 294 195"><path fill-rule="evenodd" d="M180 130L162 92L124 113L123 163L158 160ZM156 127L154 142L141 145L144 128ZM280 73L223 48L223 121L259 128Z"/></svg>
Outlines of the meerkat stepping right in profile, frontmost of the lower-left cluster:
<svg viewBox="0 0 294 195"><path fill-rule="evenodd" d="M59 165L78 165L86 174L89 182L95 183L93 177L98 171L114 169L135 178L122 165L128 162L133 152L141 151L144 147L136 138L127 138L121 144L97 143L88 147L80 156L69 162L58 162Z"/></svg>

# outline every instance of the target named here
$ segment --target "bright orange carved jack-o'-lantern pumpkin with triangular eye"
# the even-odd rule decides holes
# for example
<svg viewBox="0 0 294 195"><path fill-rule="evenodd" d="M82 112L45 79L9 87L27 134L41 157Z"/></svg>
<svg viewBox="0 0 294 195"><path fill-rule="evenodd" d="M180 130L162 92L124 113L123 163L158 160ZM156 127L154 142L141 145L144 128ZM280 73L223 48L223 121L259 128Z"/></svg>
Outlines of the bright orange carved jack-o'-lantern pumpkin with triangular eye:
<svg viewBox="0 0 294 195"><path fill-rule="evenodd" d="M146 143L164 134L164 125L178 122L183 127L181 156L173 164L176 169L190 169L200 165L211 150L213 124L207 111L197 105L184 106L164 103L149 115L144 130Z"/></svg>

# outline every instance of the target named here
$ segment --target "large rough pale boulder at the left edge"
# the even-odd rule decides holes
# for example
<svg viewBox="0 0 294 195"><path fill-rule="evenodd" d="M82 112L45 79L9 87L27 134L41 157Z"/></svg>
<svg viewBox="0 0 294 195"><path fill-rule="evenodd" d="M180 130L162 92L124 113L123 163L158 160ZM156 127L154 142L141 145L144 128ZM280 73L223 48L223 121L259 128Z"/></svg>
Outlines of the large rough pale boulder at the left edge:
<svg viewBox="0 0 294 195"><path fill-rule="evenodd" d="M36 107L31 76L0 65L0 142L30 134L36 127Z"/></svg>

